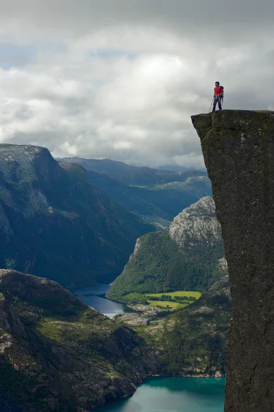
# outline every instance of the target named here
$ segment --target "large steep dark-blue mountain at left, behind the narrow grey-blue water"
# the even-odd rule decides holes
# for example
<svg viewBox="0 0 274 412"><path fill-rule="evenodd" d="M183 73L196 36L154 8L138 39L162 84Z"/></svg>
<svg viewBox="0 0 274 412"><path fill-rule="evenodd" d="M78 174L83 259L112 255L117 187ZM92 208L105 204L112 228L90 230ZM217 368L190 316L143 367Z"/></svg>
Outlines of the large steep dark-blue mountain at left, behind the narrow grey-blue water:
<svg viewBox="0 0 274 412"><path fill-rule="evenodd" d="M138 236L153 230L45 148L0 145L0 267L64 286L121 273ZM107 279L108 280L108 279Z"/></svg>

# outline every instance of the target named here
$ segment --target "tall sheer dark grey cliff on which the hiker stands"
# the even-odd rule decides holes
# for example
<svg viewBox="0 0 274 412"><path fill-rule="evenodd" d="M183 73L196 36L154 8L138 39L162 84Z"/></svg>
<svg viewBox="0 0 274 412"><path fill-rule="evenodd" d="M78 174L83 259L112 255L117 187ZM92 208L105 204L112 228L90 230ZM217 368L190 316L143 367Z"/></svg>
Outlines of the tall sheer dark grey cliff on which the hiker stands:
<svg viewBox="0 0 274 412"><path fill-rule="evenodd" d="M273 412L274 112L220 111L192 122L231 284L225 412Z"/></svg>

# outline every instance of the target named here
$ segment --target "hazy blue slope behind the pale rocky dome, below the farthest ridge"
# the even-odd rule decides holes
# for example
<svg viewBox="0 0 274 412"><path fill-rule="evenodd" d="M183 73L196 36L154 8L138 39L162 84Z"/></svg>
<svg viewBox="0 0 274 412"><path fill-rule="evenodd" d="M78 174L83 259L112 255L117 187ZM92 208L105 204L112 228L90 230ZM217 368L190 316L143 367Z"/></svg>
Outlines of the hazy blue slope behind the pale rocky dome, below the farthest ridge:
<svg viewBox="0 0 274 412"><path fill-rule="evenodd" d="M169 227L179 211L212 194L208 178L192 173L162 176L165 179L162 183L147 187L125 185L106 174L91 171L88 178L114 201L161 229Z"/></svg>

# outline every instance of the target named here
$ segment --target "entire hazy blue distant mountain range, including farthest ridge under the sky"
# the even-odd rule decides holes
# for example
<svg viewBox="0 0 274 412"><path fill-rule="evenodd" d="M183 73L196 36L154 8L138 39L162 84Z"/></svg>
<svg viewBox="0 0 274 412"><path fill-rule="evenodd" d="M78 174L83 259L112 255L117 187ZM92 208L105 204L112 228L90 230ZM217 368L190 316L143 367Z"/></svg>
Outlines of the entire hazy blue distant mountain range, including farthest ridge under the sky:
<svg viewBox="0 0 274 412"><path fill-rule="evenodd" d="M158 229L167 229L179 211L212 194L206 172L199 170L174 173L137 168L110 159L60 160L82 165L92 184Z"/></svg>

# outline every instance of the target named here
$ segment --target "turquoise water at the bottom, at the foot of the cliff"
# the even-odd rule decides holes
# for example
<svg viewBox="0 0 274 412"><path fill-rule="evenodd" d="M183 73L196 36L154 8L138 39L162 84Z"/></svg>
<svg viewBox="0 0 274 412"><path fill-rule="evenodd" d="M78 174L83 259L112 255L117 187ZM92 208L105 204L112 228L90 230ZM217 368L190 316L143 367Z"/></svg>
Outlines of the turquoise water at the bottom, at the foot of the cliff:
<svg viewBox="0 0 274 412"><path fill-rule="evenodd" d="M96 412L223 412L225 378L147 378L134 396Z"/></svg>

